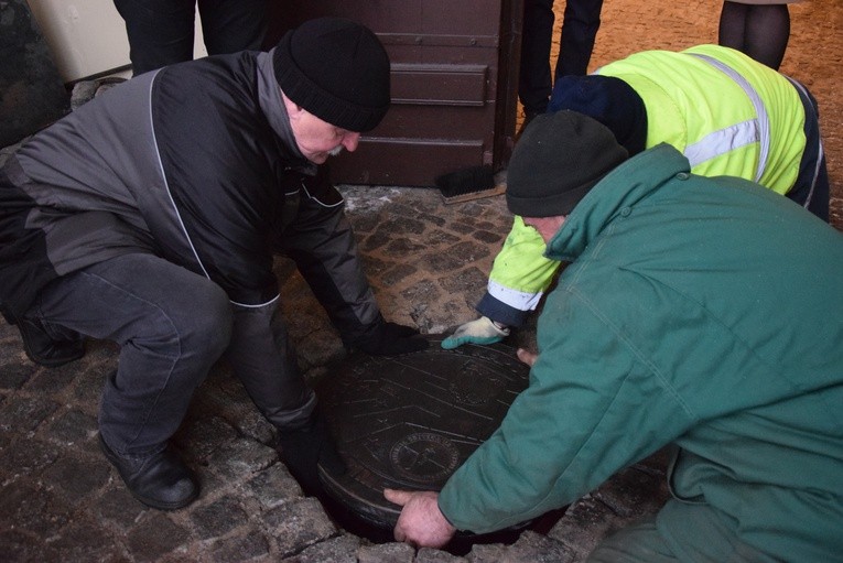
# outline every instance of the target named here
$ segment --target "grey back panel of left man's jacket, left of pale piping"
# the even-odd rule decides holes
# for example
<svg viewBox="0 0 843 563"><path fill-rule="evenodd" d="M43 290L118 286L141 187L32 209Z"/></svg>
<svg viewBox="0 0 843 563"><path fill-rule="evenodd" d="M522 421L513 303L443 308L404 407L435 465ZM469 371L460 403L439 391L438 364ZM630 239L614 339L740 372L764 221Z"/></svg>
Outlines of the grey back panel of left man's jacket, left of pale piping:
<svg viewBox="0 0 843 563"><path fill-rule="evenodd" d="M192 256L154 142L155 74L105 93L17 154L35 204L28 227L44 230L60 275L127 251Z"/></svg>

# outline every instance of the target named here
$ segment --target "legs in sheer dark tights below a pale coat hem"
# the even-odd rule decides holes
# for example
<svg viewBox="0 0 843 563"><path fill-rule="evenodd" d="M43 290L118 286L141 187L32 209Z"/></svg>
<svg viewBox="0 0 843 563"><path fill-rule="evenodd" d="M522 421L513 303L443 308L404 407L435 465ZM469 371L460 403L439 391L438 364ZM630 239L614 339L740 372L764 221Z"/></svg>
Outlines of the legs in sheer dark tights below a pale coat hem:
<svg viewBox="0 0 843 563"><path fill-rule="evenodd" d="M718 43L778 71L790 39L790 11L781 4L723 2Z"/></svg>

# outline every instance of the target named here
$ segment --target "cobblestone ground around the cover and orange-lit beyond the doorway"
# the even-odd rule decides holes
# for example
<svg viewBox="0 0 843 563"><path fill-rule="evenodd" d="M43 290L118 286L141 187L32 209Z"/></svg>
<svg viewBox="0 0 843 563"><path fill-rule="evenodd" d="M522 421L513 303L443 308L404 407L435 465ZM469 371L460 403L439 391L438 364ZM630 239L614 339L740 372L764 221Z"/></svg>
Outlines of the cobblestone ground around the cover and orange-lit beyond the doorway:
<svg viewBox="0 0 843 563"><path fill-rule="evenodd" d="M562 2L560 2L562 4ZM563 4L562 4L563 6ZM720 2L609 0L593 66L644 48L716 41ZM558 10L561 7L558 7ZM793 6L782 71L817 96L832 181L832 223L843 229L843 6ZM365 266L385 315L440 333L475 313L510 226L502 198L445 206L432 190L344 187ZM344 350L290 262L277 273L307 377ZM530 343L530 332L517 339ZM655 511L664 497L660 453L613 477L559 518L506 542L462 551L378 543L341 528L279 463L274 430L218 366L195 396L175 444L202 480L176 512L145 509L99 453L97 408L116 346L89 342L84 359L46 369L0 325L0 559L4 561L572 562L607 530Z"/></svg>

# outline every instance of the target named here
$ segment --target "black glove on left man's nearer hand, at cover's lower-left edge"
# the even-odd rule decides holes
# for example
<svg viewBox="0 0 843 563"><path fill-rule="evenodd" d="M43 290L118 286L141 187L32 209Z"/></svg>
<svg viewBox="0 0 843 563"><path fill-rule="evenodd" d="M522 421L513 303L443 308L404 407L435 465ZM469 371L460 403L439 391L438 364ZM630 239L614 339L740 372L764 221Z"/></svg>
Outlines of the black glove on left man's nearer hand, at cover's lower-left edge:
<svg viewBox="0 0 843 563"><path fill-rule="evenodd" d="M345 475L348 468L339 457L325 418L316 411L313 420L295 430L279 429L281 461L307 496L323 494L317 466L334 477Z"/></svg>

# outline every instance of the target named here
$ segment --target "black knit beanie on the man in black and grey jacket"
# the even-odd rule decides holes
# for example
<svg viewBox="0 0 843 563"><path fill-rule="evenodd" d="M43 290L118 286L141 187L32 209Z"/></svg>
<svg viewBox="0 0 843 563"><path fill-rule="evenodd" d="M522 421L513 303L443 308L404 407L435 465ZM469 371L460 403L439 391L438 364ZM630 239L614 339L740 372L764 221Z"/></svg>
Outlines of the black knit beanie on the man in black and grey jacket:
<svg viewBox="0 0 843 563"><path fill-rule="evenodd" d="M333 126L370 131L389 108L389 56L359 23L306 21L281 37L272 64L287 97Z"/></svg>

